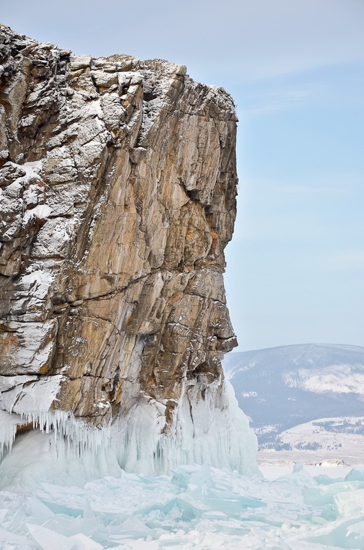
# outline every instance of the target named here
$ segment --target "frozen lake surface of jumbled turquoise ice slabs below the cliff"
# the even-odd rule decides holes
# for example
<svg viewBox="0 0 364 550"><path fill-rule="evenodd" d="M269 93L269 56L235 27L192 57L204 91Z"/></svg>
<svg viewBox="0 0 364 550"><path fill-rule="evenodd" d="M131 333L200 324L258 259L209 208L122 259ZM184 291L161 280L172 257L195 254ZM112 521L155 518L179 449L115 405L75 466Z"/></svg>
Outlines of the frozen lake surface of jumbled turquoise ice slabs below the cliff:
<svg viewBox="0 0 364 550"><path fill-rule="evenodd" d="M1 550L364 548L364 469L264 465L122 472L0 492ZM27 472L32 483L38 470ZM32 485L32 483L30 485Z"/></svg>

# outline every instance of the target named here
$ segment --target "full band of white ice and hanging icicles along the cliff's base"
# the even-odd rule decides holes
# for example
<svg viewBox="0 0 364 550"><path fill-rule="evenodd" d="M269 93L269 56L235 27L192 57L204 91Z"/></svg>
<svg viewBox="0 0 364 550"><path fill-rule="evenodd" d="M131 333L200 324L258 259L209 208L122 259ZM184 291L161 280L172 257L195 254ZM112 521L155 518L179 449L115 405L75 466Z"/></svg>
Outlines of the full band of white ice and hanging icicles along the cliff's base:
<svg viewBox="0 0 364 550"><path fill-rule="evenodd" d="M27 404L36 404L32 392ZM186 463L207 463L244 474L258 470L255 434L226 380L201 387L186 383L172 426L166 425L166 406L140 393L135 406L102 429L71 412L44 409L45 404L43 399L43 410L24 410L22 400L22 408L18 401L14 412L1 411L0 450L11 449L17 425L32 422L34 430L54 434L58 456L73 459L91 452L97 459L110 451L129 472L164 474Z"/></svg>

